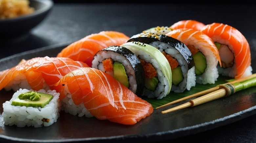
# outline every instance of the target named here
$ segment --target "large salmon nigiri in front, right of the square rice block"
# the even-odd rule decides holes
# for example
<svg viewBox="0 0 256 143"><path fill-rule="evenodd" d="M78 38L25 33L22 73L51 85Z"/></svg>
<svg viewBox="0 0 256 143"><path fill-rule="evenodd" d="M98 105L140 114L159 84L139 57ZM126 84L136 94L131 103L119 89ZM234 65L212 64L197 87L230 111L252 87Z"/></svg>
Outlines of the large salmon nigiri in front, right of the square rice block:
<svg viewBox="0 0 256 143"><path fill-rule="evenodd" d="M139 98L110 74L94 68L71 71L56 83L56 87L60 93L59 99L66 108L64 110L80 117L91 114L100 120L132 125L153 112L150 103Z"/></svg>

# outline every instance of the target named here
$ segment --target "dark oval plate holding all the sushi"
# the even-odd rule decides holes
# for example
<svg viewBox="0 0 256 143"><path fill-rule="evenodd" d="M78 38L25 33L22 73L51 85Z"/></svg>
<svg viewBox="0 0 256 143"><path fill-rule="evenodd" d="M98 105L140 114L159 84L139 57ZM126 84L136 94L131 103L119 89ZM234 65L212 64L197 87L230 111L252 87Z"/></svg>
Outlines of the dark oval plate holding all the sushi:
<svg viewBox="0 0 256 143"><path fill-rule="evenodd" d="M22 58L56 56L65 45L53 45L23 52L0 60L0 71L15 66ZM13 91L0 91L0 104L9 101ZM173 105L174 106L174 105ZM160 142L200 133L244 119L256 113L256 88L239 91L193 108L161 114L171 106L154 109L135 125L73 116L63 111L49 127L33 128L4 125L0 116L0 142ZM3 112L0 106L0 113Z"/></svg>

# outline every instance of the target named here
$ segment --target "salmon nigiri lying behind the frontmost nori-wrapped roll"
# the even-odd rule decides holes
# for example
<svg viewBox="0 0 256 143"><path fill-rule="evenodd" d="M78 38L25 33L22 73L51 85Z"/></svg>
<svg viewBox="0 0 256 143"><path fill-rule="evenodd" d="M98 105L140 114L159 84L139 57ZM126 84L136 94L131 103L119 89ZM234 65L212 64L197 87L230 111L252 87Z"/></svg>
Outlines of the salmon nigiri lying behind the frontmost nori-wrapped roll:
<svg viewBox="0 0 256 143"><path fill-rule="evenodd" d="M58 53L57 57L69 57L91 67L96 52L109 46L120 46L128 39L128 36L117 31L101 31L73 42Z"/></svg>

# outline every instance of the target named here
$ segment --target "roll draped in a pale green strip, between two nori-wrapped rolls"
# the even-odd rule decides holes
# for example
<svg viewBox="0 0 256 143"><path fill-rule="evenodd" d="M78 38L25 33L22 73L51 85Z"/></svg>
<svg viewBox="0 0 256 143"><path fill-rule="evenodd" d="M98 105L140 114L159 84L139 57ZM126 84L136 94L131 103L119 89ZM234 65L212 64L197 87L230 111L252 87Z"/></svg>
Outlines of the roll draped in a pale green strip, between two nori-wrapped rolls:
<svg viewBox="0 0 256 143"><path fill-rule="evenodd" d="M162 99L170 93L171 67L158 49L140 42L126 42L120 46L131 50L139 58L144 68L146 82L143 96Z"/></svg>

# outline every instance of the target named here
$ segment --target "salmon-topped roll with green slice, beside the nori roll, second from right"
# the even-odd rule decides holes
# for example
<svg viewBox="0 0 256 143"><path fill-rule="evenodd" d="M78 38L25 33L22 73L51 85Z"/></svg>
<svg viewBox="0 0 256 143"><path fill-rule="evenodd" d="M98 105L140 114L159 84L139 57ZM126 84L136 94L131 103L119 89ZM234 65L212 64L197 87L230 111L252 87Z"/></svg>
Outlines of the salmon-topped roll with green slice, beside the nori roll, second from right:
<svg viewBox="0 0 256 143"><path fill-rule="evenodd" d="M195 61L196 82L214 84L219 77L218 61L221 64L217 47L206 34L188 28L175 29L166 34L184 43Z"/></svg>

